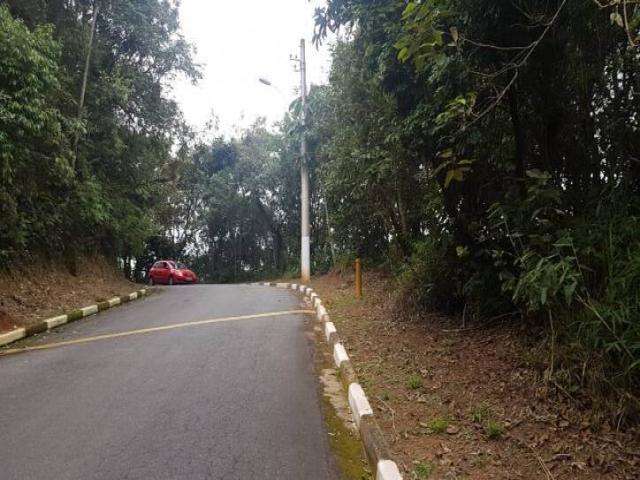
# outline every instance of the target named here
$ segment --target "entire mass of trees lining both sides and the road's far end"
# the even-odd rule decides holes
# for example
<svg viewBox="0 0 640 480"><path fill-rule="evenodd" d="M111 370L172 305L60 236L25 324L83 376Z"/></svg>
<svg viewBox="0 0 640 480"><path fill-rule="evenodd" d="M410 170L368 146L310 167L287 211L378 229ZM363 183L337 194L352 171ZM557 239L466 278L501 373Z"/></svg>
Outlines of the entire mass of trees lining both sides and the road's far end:
<svg viewBox="0 0 640 480"><path fill-rule="evenodd" d="M94 2L0 3L3 259L295 275L306 131L315 272L360 255L417 308L533 326L551 385L637 419L637 1L328 0L316 40L342 35L308 124L294 104L235 139L164 95L198 76L174 2L95 3L92 49Z"/></svg>

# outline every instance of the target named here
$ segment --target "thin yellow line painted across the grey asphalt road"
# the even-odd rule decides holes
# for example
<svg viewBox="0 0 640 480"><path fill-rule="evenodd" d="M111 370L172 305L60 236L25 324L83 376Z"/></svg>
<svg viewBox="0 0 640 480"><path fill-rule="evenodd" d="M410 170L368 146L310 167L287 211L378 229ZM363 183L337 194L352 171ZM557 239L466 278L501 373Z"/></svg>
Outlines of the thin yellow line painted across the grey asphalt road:
<svg viewBox="0 0 640 480"><path fill-rule="evenodd" d="M231 322L234 320L251 320L254 318L278 317L281 315L304 315L314 314L313 310L284 310L281 312L255 313L252 315L240 315L237 317L212 318L210 320L198 320L195 322L174 323L173 325L163 325L161 327L141 328L139 330L129 330L126 332L107 333L105 335L96 335L94 337L83 337L75 340L67 340L64 342L46 343L44 345L34 345L32 347L10 348L0 350L0 357L5 355L13 355L16 353L31 352L34 350L48 350L50 348L66 347L69 345L77 345L79 343L97 342L100 340L108 340L111 338L130 337L132 335L141 335L145 333L162 332L165 330L175 330L177 328L197 327L199 325L209 325L212 323Z"/></svg>

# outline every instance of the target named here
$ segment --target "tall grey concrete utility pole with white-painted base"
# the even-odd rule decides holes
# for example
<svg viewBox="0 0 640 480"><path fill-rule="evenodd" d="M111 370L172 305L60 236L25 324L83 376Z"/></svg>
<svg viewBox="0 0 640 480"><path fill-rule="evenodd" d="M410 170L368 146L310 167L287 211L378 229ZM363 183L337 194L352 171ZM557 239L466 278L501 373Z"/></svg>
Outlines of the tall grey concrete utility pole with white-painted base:
<svg viewBox="0 0 640 480"><path fill-rule="evenodd" d="M307 61L304 39L300 40L300 100L302 103L302 139L300 142L300 273L302 283L311 278L311 247L309 239L309 166L307 164Z"/></svg>

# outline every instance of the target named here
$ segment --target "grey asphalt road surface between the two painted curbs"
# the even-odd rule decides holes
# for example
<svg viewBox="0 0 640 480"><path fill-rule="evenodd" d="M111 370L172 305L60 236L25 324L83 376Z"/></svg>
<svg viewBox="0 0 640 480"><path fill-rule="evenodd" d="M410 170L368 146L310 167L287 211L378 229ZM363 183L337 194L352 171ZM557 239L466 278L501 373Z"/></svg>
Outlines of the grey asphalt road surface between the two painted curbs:
<svg viewBox="0 0 640 480"><path fill-rule="evenodd" d="M301 308L268 287L161 290L28 344ZM230 320L0 357L0 478L338 478L310 322Z"/></svg>

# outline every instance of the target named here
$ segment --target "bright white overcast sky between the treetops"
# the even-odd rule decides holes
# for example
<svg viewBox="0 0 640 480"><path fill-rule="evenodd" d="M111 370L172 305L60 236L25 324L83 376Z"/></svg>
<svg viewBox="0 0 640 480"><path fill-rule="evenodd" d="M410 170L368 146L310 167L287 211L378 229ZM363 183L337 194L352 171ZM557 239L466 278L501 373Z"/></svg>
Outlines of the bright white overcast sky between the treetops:
<svg viewBox="0 0 640 480"><path fill-rule="evenodd" d="M313 12L324 0L182 0L180 22L185 38L197 49L203 78L196 86L177 79L173 96L187 122L199 130L212 116L226 136L259 116L282 119L299 95L300 74L291 55L300 39L307 43L307 84L325 83L329 47L317 50ZM263 85L269 80L273 87Z"/></svg>

